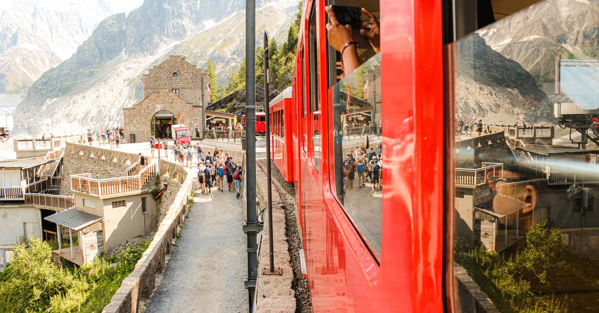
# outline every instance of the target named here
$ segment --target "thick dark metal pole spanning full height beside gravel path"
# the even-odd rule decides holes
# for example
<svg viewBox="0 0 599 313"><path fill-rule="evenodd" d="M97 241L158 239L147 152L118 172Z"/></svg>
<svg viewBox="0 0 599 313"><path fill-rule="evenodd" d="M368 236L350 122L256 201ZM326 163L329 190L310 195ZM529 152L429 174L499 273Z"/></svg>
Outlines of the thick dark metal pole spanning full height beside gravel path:
<svg viewBox="0 0 599 313"><path fill-rule="evenodd" d="M256 1L246 0L246 210L247 281L249 308L253 311L258 278L258 232L256 219Z"/></svg>

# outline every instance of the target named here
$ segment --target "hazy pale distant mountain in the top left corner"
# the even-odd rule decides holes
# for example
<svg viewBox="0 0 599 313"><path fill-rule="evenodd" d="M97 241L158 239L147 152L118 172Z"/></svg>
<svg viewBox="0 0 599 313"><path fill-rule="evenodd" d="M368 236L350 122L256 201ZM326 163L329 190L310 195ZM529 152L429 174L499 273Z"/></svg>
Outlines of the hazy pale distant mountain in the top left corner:
<svg viewBox="0 0 599 313"><path fill-rule="evenodd" d="M1 106L14 106L41 74L75 52L107 16L128 12L141 0L2 0Z"/></svg>

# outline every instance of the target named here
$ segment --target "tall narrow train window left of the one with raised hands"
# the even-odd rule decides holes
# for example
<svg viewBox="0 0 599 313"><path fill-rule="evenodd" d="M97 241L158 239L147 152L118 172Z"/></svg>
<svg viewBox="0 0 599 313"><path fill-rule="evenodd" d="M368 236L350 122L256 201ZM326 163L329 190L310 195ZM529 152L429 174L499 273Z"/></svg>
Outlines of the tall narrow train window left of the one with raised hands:
<svg viewBox="0 0 599 313"><path fill-rule="evenodd" d="M310 70L310 116L311 118L308 120L310 124L310 136L311 141L310 146L313 148L314 157L313 163L316 170L320 170L320 130L318 123L318 71L316 69L318 65L318 50L317 50L317 40L316 40L316 10L312 10L312 14L310 16L310 25L308 26L308 50L310 52L310 57L308 58L309 62L309 70Z"/></svg>

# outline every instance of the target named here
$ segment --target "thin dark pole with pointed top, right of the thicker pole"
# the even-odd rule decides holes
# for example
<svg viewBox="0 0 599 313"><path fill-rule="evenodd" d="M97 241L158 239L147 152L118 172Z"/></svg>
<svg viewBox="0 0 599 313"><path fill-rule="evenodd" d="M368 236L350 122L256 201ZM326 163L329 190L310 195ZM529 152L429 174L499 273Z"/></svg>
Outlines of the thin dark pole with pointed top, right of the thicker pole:
<svg viewBox="0 0 599 313"><path fill-rule="evenodd" d="M273 191L270 173L270 101L268 101L268 35L264 32L264 112L266 125L266 179L268 198L268 252L270 257L270 272L274 272L273 252Z"/></svg>

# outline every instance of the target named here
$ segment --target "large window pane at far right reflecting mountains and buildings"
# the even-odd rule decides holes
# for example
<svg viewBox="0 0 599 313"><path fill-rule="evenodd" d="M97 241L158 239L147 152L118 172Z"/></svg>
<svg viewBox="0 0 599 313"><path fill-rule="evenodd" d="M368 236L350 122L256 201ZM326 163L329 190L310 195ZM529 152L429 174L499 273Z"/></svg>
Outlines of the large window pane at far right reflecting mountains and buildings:
<svg viewBox="0 0 599 313"><path fill-rule="evenodd" d="M538 2L446 47L453 260L500 312L599 309L598 8Z"/></svg>

